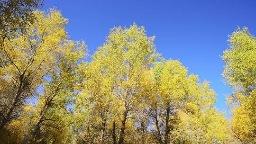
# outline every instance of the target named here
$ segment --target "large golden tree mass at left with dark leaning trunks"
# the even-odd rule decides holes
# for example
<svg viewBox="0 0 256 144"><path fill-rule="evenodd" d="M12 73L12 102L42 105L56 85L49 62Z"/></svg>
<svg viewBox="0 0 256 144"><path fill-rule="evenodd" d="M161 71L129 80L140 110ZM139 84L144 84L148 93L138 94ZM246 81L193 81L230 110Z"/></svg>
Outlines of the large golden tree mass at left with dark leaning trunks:
<svg viewBox="0 0 256 144"><path fill-rule="evenodd" d="M83 41L67 39L67 19L59 11L35 11L34 15L37 21L27 27L26 35L17 33L1 55L9 62L1 69L1 81L11 88L0 90L1 131L11 132L19 122L19 143L61 143L69 140L65 135L73 110L67 106L76 95L77 71L87 50ZM30 98L37 98L37 103L28 108ZM12 138L13 134L7 136Z"/></svg>

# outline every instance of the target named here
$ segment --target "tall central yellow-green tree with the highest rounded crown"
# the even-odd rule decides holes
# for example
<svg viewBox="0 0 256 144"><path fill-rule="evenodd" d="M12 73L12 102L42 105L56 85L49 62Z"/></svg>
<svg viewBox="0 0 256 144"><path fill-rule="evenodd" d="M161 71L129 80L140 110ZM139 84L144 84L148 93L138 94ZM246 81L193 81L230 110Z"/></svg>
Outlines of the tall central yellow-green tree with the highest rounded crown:
<svg viewBox="0 0 256 144"><path fill-rule="evenodd" d="M100 118L101 142L109 125L113 143L124 143L141 93L140 77L150 69L157 55L154 38L146 36L144 27L136 24L129 28L114 27L106 43L92 56L83 97L92 99L95 115Z"/></svg>

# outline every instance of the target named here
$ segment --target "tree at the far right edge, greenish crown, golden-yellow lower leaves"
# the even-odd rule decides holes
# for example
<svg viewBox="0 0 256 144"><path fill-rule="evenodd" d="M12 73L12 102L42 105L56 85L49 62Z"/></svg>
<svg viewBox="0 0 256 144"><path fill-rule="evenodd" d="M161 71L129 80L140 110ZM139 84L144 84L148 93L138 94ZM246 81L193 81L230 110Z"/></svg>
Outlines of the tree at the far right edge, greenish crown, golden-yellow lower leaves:
<svg viewBox="0 0 256 144"><path fill-rule="evenodd" d="M256 37L247 27L239 28L229 36L229 49L222 60L226 63L222 73L234 89L227 98L232 109L233 135L242 143L256 142Z"/></svg>

